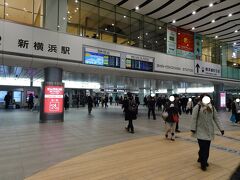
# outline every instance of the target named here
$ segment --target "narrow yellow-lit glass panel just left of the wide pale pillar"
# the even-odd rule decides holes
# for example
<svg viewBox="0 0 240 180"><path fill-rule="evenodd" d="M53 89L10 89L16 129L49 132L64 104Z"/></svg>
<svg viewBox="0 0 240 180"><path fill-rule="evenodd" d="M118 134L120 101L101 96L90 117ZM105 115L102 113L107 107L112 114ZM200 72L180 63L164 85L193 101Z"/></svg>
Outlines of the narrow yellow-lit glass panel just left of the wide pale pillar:
<svg viewBox="0 0 240 180"><path fill-rule="evenodd" d="M43 0L34 0L33 25L43 27Z"/></svg>

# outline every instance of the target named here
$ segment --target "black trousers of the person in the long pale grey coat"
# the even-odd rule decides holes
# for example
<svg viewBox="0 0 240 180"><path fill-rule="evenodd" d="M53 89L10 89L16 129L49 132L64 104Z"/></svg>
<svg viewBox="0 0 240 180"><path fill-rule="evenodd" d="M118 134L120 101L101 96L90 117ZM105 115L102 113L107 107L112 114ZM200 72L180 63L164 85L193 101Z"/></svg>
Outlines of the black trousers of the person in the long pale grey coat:
<svg viewBox="0 0 240 180"><path fill-rule="evenodd" d="M201 166L207 165L209 157L211 141L198 139L199 151L198 151L198 160L201 162Z"/></svg>

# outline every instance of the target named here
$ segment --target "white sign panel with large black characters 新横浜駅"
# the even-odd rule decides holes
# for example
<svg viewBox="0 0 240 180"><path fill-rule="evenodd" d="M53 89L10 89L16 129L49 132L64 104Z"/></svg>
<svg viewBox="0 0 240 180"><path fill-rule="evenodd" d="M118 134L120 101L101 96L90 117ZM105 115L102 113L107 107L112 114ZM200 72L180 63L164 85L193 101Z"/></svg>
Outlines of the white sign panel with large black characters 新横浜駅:
<svg viewBox="0 0 240 180"><path fill-rule="evenodd" d="M4 24L6 52L81 61L79 37L10 22ZM17 29L17 31L16 31ZM1 35L1 26L0 26Z"/></svg>

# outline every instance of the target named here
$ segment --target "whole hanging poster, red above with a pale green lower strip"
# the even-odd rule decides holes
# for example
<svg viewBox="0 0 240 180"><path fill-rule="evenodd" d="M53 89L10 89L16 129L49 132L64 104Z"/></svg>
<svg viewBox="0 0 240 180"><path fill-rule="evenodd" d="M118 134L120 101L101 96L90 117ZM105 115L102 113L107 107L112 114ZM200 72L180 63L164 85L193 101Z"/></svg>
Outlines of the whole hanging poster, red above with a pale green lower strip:
<svg viewBox="0 0 240 180"><path fill-rule="evenodd" d="M194 59L194 33L183 29L177 30L177 55Z"/></svg>

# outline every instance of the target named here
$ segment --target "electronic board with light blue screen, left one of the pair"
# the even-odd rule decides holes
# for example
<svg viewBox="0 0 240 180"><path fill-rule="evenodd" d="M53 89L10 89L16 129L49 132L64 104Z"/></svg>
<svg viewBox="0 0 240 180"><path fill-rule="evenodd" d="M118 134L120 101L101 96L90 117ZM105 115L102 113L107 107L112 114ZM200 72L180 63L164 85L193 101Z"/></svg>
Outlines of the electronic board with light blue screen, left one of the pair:
<svg viewBox="0 0 240 180"><path fill-rule="evenodd" d="M120 68L120 57L97 52L85 52L85 64Z"/></svg>

